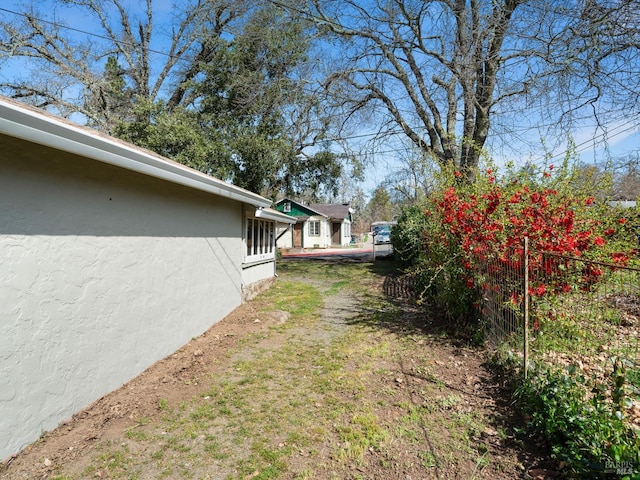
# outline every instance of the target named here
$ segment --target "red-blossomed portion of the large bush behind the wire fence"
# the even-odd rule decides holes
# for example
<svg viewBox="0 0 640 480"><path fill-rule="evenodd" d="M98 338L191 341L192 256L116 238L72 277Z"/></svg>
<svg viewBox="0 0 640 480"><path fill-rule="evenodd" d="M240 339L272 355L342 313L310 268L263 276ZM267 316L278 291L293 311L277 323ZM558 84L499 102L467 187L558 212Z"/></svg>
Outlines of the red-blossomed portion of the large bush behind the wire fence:
<svg viewBox="0 0 640 480"><path fill-rule="evenodd" d="M496 275L521 271L525 237L532 252L533 296L568 293L576 287L588 291L603 274L586 263L577 278L568 277L566 257L626 265L635 255L628 247L626 218L616 217L607 206L604 210L593 196L560 190L563 183L550 180L552 170L549 166L542 182L531 187L518 178L497 181L493 169L487 169L477 184L449 186L435 195L425 214L440 220L445 242L459 246L468 287L487 288L480 274L487 265ZM618 250L621 245L626 248ZM514 293L511 300L519 299Z"/></svg>

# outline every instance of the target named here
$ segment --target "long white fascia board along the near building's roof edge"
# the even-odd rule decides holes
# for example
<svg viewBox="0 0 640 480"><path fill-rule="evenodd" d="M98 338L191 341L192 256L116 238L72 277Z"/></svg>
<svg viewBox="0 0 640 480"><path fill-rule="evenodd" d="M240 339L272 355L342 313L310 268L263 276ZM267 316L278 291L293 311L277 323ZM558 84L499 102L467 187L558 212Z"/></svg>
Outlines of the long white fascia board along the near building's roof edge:
<svg viewBox="0 0 640 480"><path fill-rule="evenodd" d="M90 158L196 190L268 207L271 201L240 187L88 128L0 99L0 134Z"/></svg>

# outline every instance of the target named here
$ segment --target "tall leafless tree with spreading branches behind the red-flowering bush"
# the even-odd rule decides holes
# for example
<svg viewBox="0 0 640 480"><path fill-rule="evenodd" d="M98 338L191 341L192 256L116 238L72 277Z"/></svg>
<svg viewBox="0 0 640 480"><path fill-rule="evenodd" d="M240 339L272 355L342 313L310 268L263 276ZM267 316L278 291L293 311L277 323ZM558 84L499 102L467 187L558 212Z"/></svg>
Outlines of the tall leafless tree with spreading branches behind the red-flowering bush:
<svg viewBox="0 0 640 480"><path fill-rule="evenodd" d="M637 106L637 0L309 0L289 8L338 42L326 85L347 115L373 109L382 134L400 129L469 179L491 134L513 139L522 126L567 125L585 107L623 113L629 98Z"/></svg>

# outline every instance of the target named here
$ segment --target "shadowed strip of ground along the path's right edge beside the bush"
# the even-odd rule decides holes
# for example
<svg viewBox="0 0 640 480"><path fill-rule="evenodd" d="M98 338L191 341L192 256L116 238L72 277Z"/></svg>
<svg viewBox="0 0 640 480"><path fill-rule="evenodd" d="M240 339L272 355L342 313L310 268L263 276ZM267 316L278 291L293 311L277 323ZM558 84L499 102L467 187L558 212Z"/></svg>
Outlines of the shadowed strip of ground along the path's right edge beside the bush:
<svg viewBox="0 0 640 480"><path fill-rule="evenodd" d="M413 338L429 350L435 360L428 371L416 369L411 358L403 358L400 353L397 355L406 387L416 387L410 395L416 406L432 400L419 393L419 385L435 385L447 395L458 395L468 408L480 412L490 425L480 432L477 441L484 442L492 455L516 452L522 465L520 474L524 478L556 476L544 443L524 433L526 422L513 405L510 378L492 364L490 351L477 341L474 343L470 331L477 331L478 325L461 326L433 306L418 303L415 279L404 275L392 257L378 258L375 262L340 257L308 261L319 262L318 267L324 262L328 268L363 263L374 274L379 283L372 285L369 293L361 294L363 298L357 311L344 318L348 324L364 326L381 332L381 335ZM503 438L498 439L495 433L498 431L508 433L501 434ZM425 438L428 438L427 433ZM542 477L538 477L539 474Z"/></svg>

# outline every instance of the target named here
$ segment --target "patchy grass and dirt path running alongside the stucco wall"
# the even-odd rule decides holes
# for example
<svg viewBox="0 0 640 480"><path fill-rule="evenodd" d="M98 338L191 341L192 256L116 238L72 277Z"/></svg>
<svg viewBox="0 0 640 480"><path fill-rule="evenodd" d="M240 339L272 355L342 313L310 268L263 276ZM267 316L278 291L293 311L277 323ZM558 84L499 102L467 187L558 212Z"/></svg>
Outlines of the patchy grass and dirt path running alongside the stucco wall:
<svg viewBox="0 0 640 480"><path fill-rule="evenodd" d="M430 331L384 279L370 264L283 264L269 292L0 479L535 478L542 457L514 434L483 352Z"/></svg>

